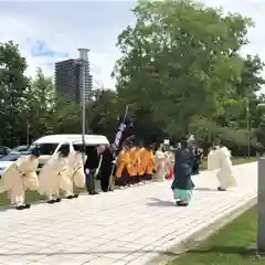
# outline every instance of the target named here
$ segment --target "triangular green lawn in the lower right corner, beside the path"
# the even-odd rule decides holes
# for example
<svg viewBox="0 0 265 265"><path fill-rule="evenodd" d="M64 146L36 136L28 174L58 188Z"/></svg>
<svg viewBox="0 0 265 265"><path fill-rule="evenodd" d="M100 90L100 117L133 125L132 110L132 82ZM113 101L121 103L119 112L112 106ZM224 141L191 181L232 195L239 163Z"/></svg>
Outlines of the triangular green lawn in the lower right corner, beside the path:
<svg viewBox="0 0 265 265"><path fill-rule="evenodd" d="M256 242L256 232L254 206L169 265L264 265L265 256L247 251Z"/></svg>

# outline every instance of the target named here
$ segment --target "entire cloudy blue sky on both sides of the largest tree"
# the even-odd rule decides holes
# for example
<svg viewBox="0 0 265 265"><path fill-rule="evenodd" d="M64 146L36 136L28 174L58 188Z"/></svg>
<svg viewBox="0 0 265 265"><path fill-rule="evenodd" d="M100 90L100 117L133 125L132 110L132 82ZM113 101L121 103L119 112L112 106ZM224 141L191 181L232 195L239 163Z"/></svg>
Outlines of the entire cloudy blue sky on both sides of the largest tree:
<svg viewBox="0 0 265 265"><path fill-rule="evenodd" d="M252 17L256 28L243 52L257 53L265 61L265 0L204 0L209 6ZM2 1L0 0L0 41L13 40L26 56L28 74L41 66L53 74L54 62L78 56L78 47L91 49L95 85L114 87L110 78L120 56L117 35L135 22L129 11L136 1ZM3 26L4 25L4 26Z"/></svg>

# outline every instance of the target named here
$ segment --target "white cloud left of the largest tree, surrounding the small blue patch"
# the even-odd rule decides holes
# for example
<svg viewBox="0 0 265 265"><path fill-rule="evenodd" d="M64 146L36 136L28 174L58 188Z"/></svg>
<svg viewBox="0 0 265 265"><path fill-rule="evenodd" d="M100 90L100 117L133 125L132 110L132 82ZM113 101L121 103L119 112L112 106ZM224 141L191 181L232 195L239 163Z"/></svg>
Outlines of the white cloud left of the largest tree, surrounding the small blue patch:
<svg viewBox="0 0 265 265"><path fill-rule="evenodd" d="M117 4L123 11L119 14L115 13L119 12L118 7L104 8L104 2L0 2L0 41L13 40L20 45L29 64L29 75L33 75L38 66L53 75L54 63L65 60L33 56L31 49L36 41L44 41L51 50L67 53L70 57L78 56L78 47L88 47L95 84L114 88L110 72L119 56L116 38L132 18L130 4Z"/></svg>

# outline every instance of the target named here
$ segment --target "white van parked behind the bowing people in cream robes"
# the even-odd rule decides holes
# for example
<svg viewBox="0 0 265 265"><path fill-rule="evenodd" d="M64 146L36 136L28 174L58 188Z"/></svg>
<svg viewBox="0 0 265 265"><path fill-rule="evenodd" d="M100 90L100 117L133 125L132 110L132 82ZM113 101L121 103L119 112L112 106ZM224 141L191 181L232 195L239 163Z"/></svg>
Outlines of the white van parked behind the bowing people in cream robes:
<svg viewBox="0 0 265 265"><path fill-rule="evenodd" d="M83 145L82 135L49 135L35 140L31 147L38 146L40 148L39 167L43 167L47 159L64 145L70 146L70 149ZM106 136L85 135L85 146L96 147L99 145L109 145Z"/></svg>

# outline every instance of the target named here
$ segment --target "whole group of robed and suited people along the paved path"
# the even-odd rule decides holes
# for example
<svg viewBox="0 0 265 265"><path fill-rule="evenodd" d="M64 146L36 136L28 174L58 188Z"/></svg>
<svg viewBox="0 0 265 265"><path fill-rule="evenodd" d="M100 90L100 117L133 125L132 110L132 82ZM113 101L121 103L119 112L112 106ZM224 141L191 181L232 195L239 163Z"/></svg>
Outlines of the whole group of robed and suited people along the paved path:
<svg viewBox="0 0 265 265"><path fill-rule="evenodd" d="M26 203L26 190L38 191L49 204L54 204L62 199L78 198L75 187L85 188L91 195L98 194L96 180L100 181L102 192L110 192L114 187L125 189L173 179L173 200L177 205L187 206L194 188L192 176L199 174L202 156L192 135L182 139L177 149L170 148L169 142L144 145L135 139L124 140L119 150L113 146L75 146L71 149L63 145L38 176L40 150L35 147L4 171L0 192L7 191L10 204L24 210L31 206ZM231 152L221 141L209 151L208 169L219 169L219 191L236 186Z"/></svg>

